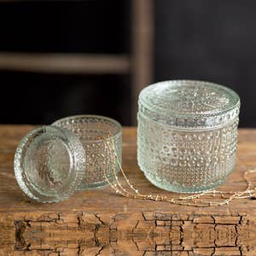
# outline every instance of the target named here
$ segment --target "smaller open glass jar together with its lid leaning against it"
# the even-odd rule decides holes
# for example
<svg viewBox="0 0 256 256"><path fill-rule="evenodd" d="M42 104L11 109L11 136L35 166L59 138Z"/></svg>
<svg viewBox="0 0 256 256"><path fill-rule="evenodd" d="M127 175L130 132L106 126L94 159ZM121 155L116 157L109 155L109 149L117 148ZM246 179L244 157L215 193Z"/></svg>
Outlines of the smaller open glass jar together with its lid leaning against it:
<svg viewBox="0 0 256 256"><path fill-rule="evenodd" d="M121 125L103 116L77 115L30 131L16 149L15 177L33 200L56 202L75 190L108 184L121 160Z"/></svg>

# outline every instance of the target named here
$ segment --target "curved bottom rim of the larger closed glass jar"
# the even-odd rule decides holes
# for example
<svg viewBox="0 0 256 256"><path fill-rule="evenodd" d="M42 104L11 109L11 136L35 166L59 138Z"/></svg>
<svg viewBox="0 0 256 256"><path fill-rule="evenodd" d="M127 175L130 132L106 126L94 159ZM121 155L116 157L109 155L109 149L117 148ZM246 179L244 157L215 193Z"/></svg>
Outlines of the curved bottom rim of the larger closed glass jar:
<svg viewBox="0 0 256 256"><path fill-rule="evenodd" d="M183 187L179 184L165 184L165 183L159 183L157 182L155 179L153 179L152 177L148 177L148 175L146 175L146 173L144 172L145 177L148 178L148 181L152 184L154 184L154 186L160 188L160 189L164 189L167 191L171 191L171 192L176 192L176 193L201 193L204 191L207 191L209 189L214 189L217 188L219 185L221 185L222 183L225 182L225 178L216 181L215 183L210 183L207 186L202 186L202 187L196 187L196 188L189 188L189 187Z"/></svg>

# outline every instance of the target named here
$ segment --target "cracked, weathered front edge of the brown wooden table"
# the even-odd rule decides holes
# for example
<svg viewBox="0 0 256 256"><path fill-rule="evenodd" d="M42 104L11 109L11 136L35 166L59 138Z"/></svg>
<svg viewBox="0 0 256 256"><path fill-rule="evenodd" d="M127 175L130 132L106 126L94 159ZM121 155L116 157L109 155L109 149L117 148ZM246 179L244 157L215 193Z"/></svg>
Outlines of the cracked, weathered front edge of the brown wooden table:
<svg viewBox="0 0 256 256"><path fill-rule="evenodd" d="M206 216L200 217L203 220ZM227 252L247 255L256 249L254 218L240 216L236 224L230 223L235 223L237 216L230 216L230 223L225 224L198 223L198 219L195 223L183 215L177 218L180 219L162 220L160 215L155 215L154 220L147 220L143 212L99 215L87 212L58 215L49 212L34 215L26 212L3 213L0 243L4 247L0 253L8 248L11 253L14 248L24 254L44 251L65 255L69 250L74 255L78 252L88 255L86 253L90 251L143 255L154 251L193 253L200 249L207 249L210 253L224 252L226 247ZM219 220L225 218L218 215Z"/></svg>

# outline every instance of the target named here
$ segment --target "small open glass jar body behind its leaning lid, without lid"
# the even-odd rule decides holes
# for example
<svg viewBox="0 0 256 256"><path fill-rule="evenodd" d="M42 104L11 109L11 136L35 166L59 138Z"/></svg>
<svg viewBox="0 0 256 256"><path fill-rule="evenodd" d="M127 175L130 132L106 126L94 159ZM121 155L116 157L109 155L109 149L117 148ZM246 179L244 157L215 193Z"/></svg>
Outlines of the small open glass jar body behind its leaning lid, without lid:
<svg viewBox="0 0 256 256"><path fill-rule="evenodd" d="M114 172L119 172L119 163L122 161L122 127L117 121L98 115L76 115L59 119L53 125L73 131L84 146L86 173L79 186L80 190L108 184L104 172L112 180L113 166ZM114 158L114 152L106 149L106 142L110 140L117 158Z"/></svg>

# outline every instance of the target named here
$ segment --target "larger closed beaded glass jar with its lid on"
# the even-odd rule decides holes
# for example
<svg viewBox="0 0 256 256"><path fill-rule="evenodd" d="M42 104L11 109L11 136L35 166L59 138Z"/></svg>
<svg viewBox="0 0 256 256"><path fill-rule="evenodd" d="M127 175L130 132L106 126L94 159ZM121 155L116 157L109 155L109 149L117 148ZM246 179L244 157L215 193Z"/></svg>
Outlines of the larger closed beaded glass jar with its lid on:
<svg viewBox="0 0 256 256"><path fill-rule="evenodd" d="M240 99L218 84L173 80L139 96L137 160L151 183L201 192L224 183L236 165Z"/></svg>

